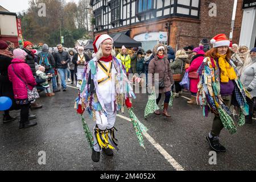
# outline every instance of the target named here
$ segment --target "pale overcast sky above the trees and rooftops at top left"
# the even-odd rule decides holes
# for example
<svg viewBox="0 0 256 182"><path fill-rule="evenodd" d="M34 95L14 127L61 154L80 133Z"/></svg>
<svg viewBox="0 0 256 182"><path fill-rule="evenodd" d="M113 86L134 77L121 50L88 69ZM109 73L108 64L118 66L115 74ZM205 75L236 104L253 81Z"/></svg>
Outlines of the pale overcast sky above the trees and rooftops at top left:
<svg viewBox="0 0 256 182"><path fill-rule="evenodd" d="M79 0L66 0L67 2L79 2ZM234 1L235 5L237 4L237 0ZM23 10L28 9L28 0L0 0L0 5L3 6L5 9L18 13L22 12ZM218 11L218 6L217 6L217 11ZM234 11L233 11L233 18L234 19Z"/></svg>

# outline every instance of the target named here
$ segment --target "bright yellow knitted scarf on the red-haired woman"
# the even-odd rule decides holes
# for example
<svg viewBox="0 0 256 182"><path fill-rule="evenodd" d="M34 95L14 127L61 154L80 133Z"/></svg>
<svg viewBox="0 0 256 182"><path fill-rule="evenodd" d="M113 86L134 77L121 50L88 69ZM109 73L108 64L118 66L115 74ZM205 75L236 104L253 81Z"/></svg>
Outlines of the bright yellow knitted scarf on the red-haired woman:
<svg viewBox="0 0 256 182"><path fill-rule="evenodd" d="M237 78L234 68L226 61L226 55L220 55L217 53L218 65L220 65L221 82L229 82L229 80L235 80Z"/></svg>

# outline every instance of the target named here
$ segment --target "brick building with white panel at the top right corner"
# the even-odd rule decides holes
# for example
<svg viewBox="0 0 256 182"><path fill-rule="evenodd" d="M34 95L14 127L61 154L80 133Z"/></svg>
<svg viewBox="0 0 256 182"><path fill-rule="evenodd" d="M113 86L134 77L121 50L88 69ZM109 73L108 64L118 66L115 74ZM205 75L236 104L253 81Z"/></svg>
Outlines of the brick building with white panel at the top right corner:
<svg viewBox="0 0 256 182"><path fill-rule="evenodd" d="M256 47L256 0L238 0L233 28L233 43Z"/></svg>

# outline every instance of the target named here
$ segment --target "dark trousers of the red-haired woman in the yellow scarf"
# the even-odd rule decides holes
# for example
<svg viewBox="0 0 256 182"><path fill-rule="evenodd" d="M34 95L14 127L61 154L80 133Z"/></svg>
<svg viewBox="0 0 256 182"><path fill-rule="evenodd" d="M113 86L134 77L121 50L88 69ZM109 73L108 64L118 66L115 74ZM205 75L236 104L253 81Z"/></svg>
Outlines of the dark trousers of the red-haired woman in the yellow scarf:
<svg viewBox="0 0 256 182"><path fill-rule="evenodd" d="M225 105L229 108L231 105L232 96L222 96L223 101ZM223 129L223 124L221 122L220 116L215 115L212 123L212 130L210 133L213 135L213 137L218 137L220 135L221 130Z"/></svg>

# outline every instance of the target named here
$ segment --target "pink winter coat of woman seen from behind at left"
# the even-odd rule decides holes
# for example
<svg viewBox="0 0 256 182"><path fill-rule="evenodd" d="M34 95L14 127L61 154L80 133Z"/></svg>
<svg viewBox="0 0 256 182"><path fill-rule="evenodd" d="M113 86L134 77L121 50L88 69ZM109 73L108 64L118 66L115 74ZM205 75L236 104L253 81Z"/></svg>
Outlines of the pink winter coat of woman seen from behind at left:
<svg viewBox="0 0 256 182"><path fill-rule="evenodd" d="M13 65L16 75L18 75L20 78L22 78L24 82L26 82L28 89L32 90L34 86L36 86L36 81L32 74L30 66L24 60L15 58L11 61L11 64L8 67L9 80L13 82L14 98L26 99L27 98L26 84L22 80L20 80L19 77L15 75L11 65Z"/></svg>

